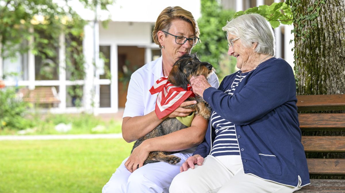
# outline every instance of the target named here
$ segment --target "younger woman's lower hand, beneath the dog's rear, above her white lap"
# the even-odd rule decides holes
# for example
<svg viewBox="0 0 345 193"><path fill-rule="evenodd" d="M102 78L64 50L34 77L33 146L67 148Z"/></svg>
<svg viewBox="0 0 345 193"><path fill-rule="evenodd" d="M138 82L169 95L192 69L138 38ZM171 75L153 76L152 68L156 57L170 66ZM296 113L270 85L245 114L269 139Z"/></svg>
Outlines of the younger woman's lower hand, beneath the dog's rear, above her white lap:
<svg viewBox="0 0 345 193"><path fill-rule="evenodd" d="M150 151L146 149L143 143L133 149L132 154L125 162L125 166L130 172L134 172L138 167L142 167L144 161L149 156Z"/></svg>

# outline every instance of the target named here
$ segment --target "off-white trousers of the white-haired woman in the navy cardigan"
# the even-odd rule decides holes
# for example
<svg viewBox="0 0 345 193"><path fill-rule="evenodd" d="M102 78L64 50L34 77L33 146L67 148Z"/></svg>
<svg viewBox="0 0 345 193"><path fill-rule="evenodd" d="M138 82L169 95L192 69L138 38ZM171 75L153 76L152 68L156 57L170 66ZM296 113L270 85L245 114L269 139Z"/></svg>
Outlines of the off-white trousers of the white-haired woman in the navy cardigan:
<svg viewBox="0 0 345 193"><path fill-rule="evenodd" d="M231 156L208 155L202 166L178 174L171 182L170 193L292 193L292 187L244 174L241 162ZM232 163L231 163L232 162Z"/></svg>

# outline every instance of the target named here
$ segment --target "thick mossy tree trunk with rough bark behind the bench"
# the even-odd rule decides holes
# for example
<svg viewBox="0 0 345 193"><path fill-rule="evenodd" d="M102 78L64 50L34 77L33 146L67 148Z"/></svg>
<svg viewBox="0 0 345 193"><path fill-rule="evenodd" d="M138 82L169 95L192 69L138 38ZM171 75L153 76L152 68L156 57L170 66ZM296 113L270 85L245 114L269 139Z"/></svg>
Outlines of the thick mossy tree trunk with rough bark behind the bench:
<svg viewBox="0 0 345 193"><path fill-rule="evenodd" d="M344 94L345 0L326 0L325 4L320 0L290 0L290 3L297 29L294 39L297 94ZM301 14L308 15L316 7L320 8L316 19L300 19ZM303 31L310 31L309 37ZM305 41L298 34L305 36Z"/></svg>

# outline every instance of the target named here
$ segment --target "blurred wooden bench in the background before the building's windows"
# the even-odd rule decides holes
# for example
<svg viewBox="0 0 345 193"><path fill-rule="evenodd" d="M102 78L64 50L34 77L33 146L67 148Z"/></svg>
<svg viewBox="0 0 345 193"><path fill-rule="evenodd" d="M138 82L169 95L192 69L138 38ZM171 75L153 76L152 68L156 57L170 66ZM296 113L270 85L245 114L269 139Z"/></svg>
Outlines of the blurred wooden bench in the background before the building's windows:
<svg viewBox="0 0 345 193"><path fill-rule="evenodd" d="M22 88L19 93L21 93L23 101L45 105L44 107L56 107L60 103L55 87L36 87L34 90Z"/></svg>

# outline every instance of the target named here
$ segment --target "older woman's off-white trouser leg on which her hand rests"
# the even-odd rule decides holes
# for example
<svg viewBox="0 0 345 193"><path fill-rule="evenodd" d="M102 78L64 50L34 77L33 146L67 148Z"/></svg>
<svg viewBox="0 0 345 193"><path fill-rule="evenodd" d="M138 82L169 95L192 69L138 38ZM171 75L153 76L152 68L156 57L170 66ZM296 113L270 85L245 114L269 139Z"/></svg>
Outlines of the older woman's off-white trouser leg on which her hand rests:
<svg viewBox="0 0 345 193"><path fill-rule="evenodd" d="M208 155L203 165L179 173L171 182L170 193L215 193L233 177L217 158Z"/></svg>

